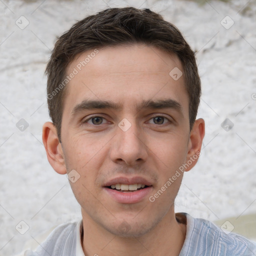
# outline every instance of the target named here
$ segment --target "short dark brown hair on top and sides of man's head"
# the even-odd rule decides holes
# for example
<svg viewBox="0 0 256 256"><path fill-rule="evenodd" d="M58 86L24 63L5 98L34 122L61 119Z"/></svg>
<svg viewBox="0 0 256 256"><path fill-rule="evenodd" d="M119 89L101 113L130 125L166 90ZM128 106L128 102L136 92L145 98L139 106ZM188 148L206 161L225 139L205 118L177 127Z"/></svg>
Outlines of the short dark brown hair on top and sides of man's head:
<svg viewBox="0 0 256 256"><path fill-rule="evenodd" d="M79 53L121 43L144 43L178 56L189 96L189 126L192 128L201 86L194 52L180 31L150 9L108 8L76 22L57 39L52 50L45 70L47 102L59 140L67 66Z"/></svg>

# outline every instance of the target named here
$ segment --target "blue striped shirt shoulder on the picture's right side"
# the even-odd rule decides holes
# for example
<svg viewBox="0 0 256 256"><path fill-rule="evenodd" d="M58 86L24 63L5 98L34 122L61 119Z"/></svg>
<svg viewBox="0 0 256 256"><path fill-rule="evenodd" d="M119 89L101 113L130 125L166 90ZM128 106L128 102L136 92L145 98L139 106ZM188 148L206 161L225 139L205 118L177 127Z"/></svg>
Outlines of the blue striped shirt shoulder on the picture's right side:
<svg viewBox="0 0 256 256"><path fill-rule="evenodd" d="M196 254L211 256L256 255L256 244L247 238L236 233L224 232L208 220L193 218L188 214L186 217L187 236L185 242L186 249L190 252L192 249Z"/></svg>

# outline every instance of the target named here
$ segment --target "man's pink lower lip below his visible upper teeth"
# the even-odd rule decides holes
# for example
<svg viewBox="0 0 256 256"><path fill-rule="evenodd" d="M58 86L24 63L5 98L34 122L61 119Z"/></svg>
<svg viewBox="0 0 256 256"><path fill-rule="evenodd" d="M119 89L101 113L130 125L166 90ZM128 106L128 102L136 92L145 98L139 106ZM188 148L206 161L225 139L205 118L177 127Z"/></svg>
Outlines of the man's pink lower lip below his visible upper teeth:
<svg viewBox="0 0 256 256"><path fill-rule="evenodd" d="M145 188L130 192L120 192L108 187L103 188L115 201L119 203L136 203L141 201L143 198L146 197L146 195L148 195L148 193L152 189L152 186L147 186Z"/></svg>

